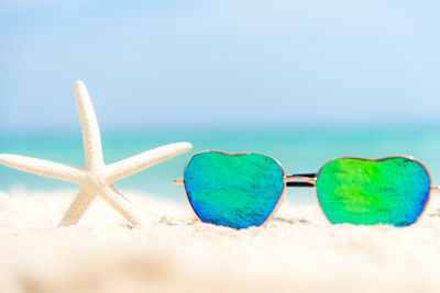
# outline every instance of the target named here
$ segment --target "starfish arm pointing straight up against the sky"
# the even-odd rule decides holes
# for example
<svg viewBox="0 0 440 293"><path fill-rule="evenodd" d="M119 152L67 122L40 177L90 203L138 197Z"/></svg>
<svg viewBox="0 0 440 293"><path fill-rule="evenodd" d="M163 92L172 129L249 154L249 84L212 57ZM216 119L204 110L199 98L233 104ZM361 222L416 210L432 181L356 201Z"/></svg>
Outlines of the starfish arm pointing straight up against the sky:
<svg viewBox="0 0 440 293"><path fill-rule="evenodd" d="M82 81L75 82L75 95L78 105L82 129L84 151L86 153L86 169L103 166L101 135L98 121L90 101L89 92Z"/></svg>

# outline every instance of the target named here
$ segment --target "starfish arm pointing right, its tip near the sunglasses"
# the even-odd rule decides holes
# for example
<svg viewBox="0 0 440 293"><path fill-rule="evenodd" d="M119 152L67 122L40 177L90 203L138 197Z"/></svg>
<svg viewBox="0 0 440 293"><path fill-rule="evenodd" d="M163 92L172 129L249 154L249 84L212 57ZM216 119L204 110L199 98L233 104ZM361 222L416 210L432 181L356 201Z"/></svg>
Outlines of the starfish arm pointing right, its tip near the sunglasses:
<svg viewBox="0 0 440 293"><path fill-rule="evenodd" d="M191 149L189 143L176 143L157 147L136 156L120 160L107 166L108 178L116 181L132 176L145 168L156 165L166 159L173 158Z"/></svg>

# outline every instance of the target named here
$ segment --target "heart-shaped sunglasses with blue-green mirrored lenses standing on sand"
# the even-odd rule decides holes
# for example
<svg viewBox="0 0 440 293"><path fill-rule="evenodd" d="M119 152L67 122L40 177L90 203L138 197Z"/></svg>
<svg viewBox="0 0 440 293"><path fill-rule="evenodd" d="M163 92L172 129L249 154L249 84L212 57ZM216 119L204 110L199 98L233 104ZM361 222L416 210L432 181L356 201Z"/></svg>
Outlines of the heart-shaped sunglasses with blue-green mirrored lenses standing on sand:
<svg viewBox="0 0 440 293"><path fill-rule="evenodd" d="M184 184L194 212L205 223L237 229L261 226L274 215L286 187L315 188L330 223L411 225L422 214L432 187L428 169L411 157L333 159L317 173L286 176L274 158L217 150L195 154Z"/></svg>

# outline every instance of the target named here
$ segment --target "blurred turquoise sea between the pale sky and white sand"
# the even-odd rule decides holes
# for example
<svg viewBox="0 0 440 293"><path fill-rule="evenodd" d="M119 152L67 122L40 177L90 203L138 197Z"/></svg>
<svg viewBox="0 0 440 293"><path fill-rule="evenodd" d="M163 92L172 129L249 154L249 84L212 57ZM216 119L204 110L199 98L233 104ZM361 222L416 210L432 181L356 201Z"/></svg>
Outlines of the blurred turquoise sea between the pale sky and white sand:
<svg viewBox="0 0 440 293"><path fill-rule="evenodd" d="M189 142L194 148L135 176L117 182L121 190L136 190L169 200L185 201L182 178L189 157L204 149L228 153L257 151L278 159L286 173L316 172L328 160L341 156L380 158L408 155L429 169L433 184L440 184L440 124L408 125L284 125L271 127L166 127L101 129L107 164L168 143ZM0 153L18 154L84 166L80 129L0 132ZM77 189L76 184L46 179L0 166L0 190ZM287 189L294 202L315 202L312 189Z"/></svg>

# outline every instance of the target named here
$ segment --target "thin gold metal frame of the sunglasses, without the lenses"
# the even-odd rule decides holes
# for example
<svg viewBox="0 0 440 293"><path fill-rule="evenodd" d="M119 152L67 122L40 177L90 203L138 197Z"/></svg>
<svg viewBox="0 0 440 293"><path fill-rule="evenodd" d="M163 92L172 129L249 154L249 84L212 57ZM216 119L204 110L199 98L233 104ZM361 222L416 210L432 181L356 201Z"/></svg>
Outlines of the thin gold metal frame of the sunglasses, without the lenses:
<svg viewBox="0 0 440 293"><path fill-rule="evenodd" d="M202 153L219 153L219 154L223 154L223 155L231 156L231 157L241 156L241 155L249 155L249 154L257 154L257 155L263 155L263 156L270 157L271 159L275 160L275 161L278 164L278 166L279 166L279 167L282 168L282 170L283 170L284 188L283 188L282 194L280 194L280 196L279 196L279 199L278 199L278 202L276 203L274 210L272 211L271 215L266 218L266 221L264 221L264 223L263 223L261 226L265 226L265 225L268 223L268 221L271 221L272 217L275 215L275 213L277 212L277 210L278 210L278 207L279 207L279 205L280 205L283 199L284 199L284 194L285 194L285 190L286 190L286 187L287 187L287 182L294 182L294 181L297 181L297 182L305 182L305 183L310 183L310 184L312 184L314 190L315 190L315 198L316 198L316 201L317 201L319 207L321 209L322 214L326 216L327 221L328 221L330 224L332 224L332 223L330 222L330 219L327 217L327 215L326 215L326 213L323 212L323 210L322 210L321 203L320 203L319 198L318 198L318 191L317 191L317 188L316 188L316 181L317 181L317 179L319 178L319 174L320 174L320 172L322 171L322 168L323 168L326 165L328 165L329 162L332 162L333 160L337 160L337 159L358 159L358 160L367 160L367 161L382 161L382 160L387 160L387 159L398 159L398 158L400 158L400 159L408 159L408 160L415 161L415 162L417 162L418 165L420 165L420 166L424 168L425 172L428 174L430 189L429 189L428 200L427 200L427 202L426 202L426 204L425 204L425 206L424 206L424 211L421 211L421 213L420 213L420 215L418 216L417 221L416 221L415 223L413 223L411 225L418 223L418 222L420 221L420 218L422 217L422 215L425 214L425 212L426 212L426 210L427 210L427 206L428 206L428 204L429 204L429 202L430 202L430 199L431 199L431 193L432 193L432 192L440 192L440 185L432 185L432 184L431 184L432 179L431 179L431 174L429 173L428 168L427 168L421 161L415 159L415 158L411 157L411 156L387 156L387 157L381 157L381 158L378 158L378 159L369 159L369 158L363 158L363 157L339 157L339 158L331 159L331 160L327 161L326 164L323 164L323 165L321 166L321 168L318 170L318 172L316 173L316 176L312 177L312 178L310 178L310 177L295 176L295 174L294 174L294 176L286 176L286 172L285 172L285 170L284 170L283 165L282 165L277 159L275 159L274 157L268 156L268 155L266 155L266 154L255 153L255 151L245 151L245 153L238 153L238 154L229 154L229 153L221 151L221 150L202 150L202 151L198 151L198 153L194 154L194 155L188 159L188 161L185 164L185 167L184 167L184 174L183 174L183 178L182 178L182 179L174 180L174 181L173 181L174 184L185 185L185 169L186 169L186 167L188 166L189 161L190 161L195 156L197 156L197 155L199 155L199 154L202 154ZM193 205L191 205L191 202L189 201L189 196L188 196L188 193L187 193L187 191L186 191L186 188L185 188L185 194L186 194L186 198L187 198L187 200L188 200L189 205L191 206L193 212L195 213L195 215L197 216L197 218L200 219L199 215L198 215L198 214L196 213L196 211L194 210L194 207L193 207ZM201 219L200 219L200 221L201 221Z"/></svg>

